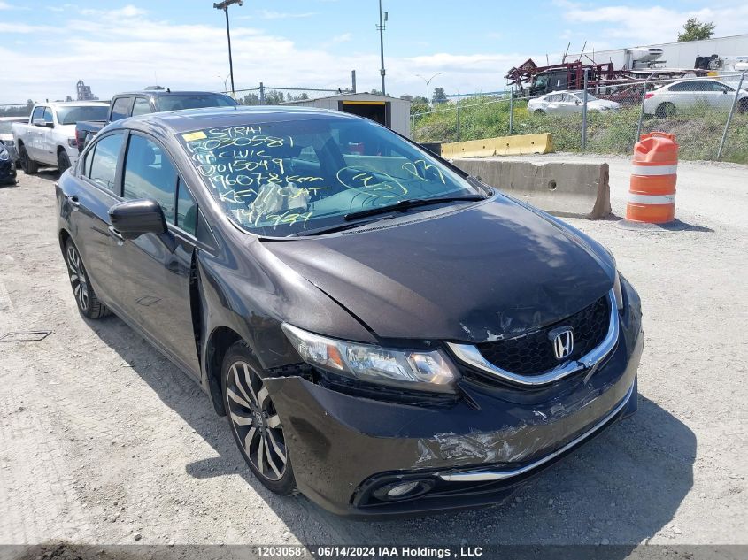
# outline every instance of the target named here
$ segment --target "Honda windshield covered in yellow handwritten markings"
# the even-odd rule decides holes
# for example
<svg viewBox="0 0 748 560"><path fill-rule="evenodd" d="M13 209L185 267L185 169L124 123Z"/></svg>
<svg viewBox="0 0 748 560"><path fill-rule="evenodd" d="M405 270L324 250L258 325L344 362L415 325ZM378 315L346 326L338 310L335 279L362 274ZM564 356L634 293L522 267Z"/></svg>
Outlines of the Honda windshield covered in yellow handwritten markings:
<svg viewBox="0 0 748 560"><path fill-rule="evenodd" d="M299 234L402 200L476 194L428 152L367 119L305 115L179 137L212 196L254 234Z"/></svg>

